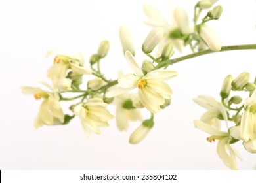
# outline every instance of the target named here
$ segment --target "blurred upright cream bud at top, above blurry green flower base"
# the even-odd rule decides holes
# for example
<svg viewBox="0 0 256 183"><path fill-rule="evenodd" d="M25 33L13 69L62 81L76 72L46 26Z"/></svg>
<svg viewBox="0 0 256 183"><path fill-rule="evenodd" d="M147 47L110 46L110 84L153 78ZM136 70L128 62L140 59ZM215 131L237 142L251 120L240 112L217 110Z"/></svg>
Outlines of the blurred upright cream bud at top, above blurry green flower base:
<svg viewBox="0 0 256 183"><path fill-rule="evenodd" d="M190 27L188 24L188 15L186 14L186 11L181 7L177 7L174 10L173 16L181 33L183 35L189 33Z"/></svg>

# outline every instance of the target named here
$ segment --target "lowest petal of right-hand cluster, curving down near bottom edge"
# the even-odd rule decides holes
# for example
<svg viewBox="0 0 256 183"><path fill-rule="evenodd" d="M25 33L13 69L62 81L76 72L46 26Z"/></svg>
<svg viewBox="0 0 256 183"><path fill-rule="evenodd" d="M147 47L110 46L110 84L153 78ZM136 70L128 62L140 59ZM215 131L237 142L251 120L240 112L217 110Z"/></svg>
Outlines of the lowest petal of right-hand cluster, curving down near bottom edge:
<svg viewBox="0 0 256 183"><path fill-rule="evenodd" d="M218 142L217 153L219 155L219 158L221 158L221 160L227 167L229 167L230 169L237 169L234 152L232 152L230 148L228 149L230 151L230 155L228 155L226 152L226 144L228 143L228 141L229 137L225 137Z"/></svg>

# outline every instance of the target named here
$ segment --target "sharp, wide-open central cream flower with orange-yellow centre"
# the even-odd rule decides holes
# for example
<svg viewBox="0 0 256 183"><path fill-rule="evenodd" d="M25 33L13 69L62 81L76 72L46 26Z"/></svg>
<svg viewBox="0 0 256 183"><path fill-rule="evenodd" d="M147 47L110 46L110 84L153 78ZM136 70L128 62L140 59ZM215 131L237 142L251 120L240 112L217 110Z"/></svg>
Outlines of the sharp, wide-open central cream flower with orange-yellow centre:
<svg viewBox="0 0 256 183"><path fill-rule="evenodd" d="M127 51L125 56L135 74L121 76L116 88L108 91L106 97L114 97L138 88L138 95L142 105L150 110L150 112L159 112L160 105L165 103L165 99L170 99L173 93L171 88L163 81L177 76L177 72L154 70L144 75L131 52Z"/></svg>

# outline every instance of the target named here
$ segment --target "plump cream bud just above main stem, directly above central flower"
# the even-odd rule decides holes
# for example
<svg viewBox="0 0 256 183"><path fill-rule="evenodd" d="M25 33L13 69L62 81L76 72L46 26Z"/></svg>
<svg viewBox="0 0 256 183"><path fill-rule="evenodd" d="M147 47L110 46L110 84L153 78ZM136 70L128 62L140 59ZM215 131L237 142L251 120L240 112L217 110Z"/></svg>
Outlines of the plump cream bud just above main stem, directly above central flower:
<svg viewBox="0 0 256 183"><path fill-rule="evenodd" d="M162 27L156 27L146 37L144 43L142 44L142 51L145 54L151 53L156 45L161 41L163 38L163 28Z"/></svg>

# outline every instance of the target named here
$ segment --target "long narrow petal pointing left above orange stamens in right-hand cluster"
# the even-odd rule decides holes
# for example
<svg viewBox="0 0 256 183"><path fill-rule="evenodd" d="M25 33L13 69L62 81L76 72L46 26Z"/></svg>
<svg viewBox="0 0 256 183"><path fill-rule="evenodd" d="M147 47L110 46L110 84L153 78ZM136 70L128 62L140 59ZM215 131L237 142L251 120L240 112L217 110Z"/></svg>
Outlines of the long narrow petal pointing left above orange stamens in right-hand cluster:
<svg viewBox="0 0 256 183"><path fill-rule="evenodd" d="M195 120L194 124L196 127L198 127L198 129L201 129L202 131L209 133L211 135L215 135L215 136L228 136L227 132L224 131L220 131L219 129L217 129L216 127L213 127L209 124L206 124L205 122L202 122L200 120Z"/></svg>

